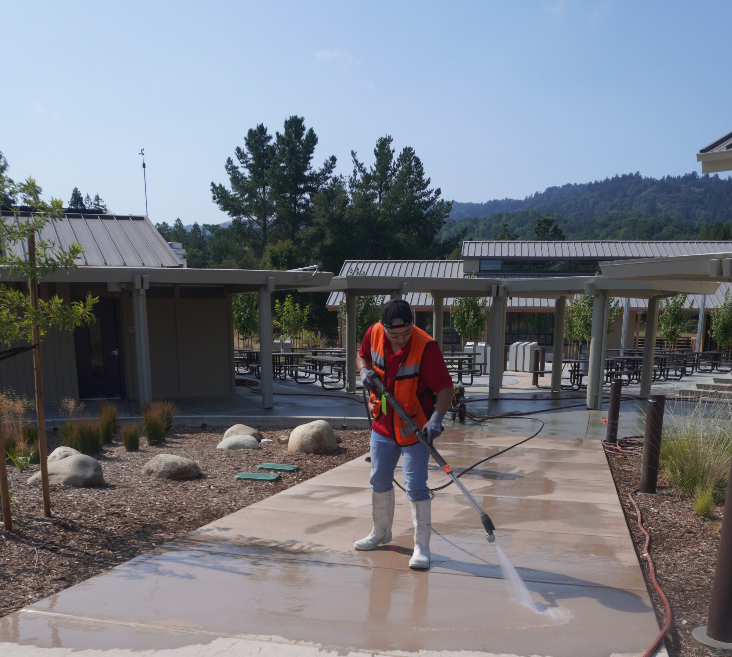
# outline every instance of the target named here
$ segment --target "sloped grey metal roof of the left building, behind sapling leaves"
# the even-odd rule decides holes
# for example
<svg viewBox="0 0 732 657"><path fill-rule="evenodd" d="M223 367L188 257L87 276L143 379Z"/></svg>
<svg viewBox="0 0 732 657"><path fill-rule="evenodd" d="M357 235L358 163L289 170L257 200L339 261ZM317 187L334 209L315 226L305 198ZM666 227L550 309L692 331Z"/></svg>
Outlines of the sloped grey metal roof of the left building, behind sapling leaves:
<svg viewBox="0 0 732 657"><path fill-rule="evenodd" d="M2 220L8 219L15 220L15 215L3 211ZM46 225L40 239L53 241L61 249L68 249L72 242L81 244L84 250L77 260L80 267L182 266L148 217L67 213L64 219ZM26 242L10 247L10 252L20 256L27 250Z"/></svg>

